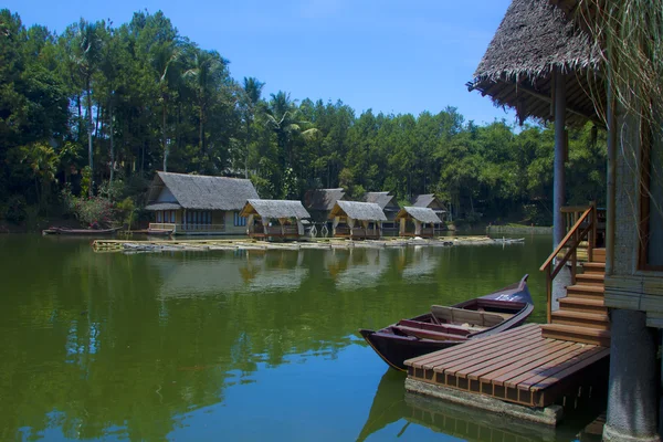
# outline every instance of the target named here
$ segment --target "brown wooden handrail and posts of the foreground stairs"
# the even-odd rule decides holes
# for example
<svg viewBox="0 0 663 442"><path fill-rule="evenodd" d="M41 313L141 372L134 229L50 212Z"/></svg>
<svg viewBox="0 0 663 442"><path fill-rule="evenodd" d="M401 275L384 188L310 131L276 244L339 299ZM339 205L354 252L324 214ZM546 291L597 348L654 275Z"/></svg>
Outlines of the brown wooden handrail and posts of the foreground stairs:
<svg viewBox="0 0 663 442"><path fill-rule="evenodd" d="M572 208L576 209L576 208ZM576 267L578 265L578 245L587 240L587 257L592 261L593 248L597 238L597 207L591 203L589 208L578 217L573 217L575 223L567 232L566 236L557 244L555 251L540 266L541 272L546 272L546 293L547 293L547 320L550 323L552 313L552 280L564 269L566 263L571 260L571 284L576 284ZM562 210L565 212L565 210ZM570 210L568 212L571 212ZM560 253L566 251L561 257Z"/></svg>

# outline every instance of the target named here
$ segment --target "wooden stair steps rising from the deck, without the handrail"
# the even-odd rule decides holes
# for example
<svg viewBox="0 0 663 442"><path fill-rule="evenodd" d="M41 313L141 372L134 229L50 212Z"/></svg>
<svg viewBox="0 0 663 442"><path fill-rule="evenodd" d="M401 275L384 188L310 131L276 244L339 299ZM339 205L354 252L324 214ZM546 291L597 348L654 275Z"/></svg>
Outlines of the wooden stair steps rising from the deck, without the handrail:
<svg viewBox="0 0 663 442"><path fill-rule="evenodd" d="M559 309L550 314L550 324L541 326L543 336L610 347L610 318L603 305L604 249L596 249L593 262L585 263L582 271L567 287L567 297L559 299Z"/></svg>

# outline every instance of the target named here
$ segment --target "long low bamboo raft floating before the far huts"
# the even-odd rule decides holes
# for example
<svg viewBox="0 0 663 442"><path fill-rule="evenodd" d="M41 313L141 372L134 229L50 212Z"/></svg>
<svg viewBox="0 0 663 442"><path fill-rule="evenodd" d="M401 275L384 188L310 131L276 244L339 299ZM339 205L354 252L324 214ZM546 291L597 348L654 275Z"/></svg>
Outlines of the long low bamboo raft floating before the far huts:
<svg viewBox="0 0 663 442"><path fill-rule="evenodd" d="M519 241L506 242L519 243ZM441 236L435 239L389 238L382 240L351 241L345 239L302 239L288 242L266 242L251 239L206 239L206 240L95 240L92 248L95 252L124 253L159 253L185 251L218 250L333 250L333 249L387 249L406 246L456 246L456 245L494 245L505 244L502 240L487 236Z"/></svg>

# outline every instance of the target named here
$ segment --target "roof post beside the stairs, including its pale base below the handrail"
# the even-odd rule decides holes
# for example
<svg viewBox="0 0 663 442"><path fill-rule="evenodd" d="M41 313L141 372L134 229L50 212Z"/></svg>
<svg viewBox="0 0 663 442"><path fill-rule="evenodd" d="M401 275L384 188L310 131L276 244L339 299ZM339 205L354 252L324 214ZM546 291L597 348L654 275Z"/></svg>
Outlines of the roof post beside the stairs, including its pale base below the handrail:
<svg viewBox="0 0 663 442"><path fill-rule="evenodd" d="M552 180L552 249L566 235L561 208L566 203L564 160L566 152L566 76L557 69L554 72L555 105L555 161ZM566 296L566 287L571 284L571 272L562 269L552 281L552 311L559 309L559 298Z"/></svg>

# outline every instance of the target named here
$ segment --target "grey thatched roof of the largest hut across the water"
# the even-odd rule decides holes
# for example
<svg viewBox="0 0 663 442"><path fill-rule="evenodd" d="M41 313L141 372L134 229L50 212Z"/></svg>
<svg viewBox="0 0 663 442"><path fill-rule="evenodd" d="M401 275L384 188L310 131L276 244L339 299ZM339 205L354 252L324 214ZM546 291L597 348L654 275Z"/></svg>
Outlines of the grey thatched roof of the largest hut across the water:
<svg viewBox="0 0 663 442"><path fill-rule="evenodd" d="M168 197L164 199L162 193ZM177 203L183 209L241 210L246 200L257 198L255 188L248 179L157 172L149 190L147 208Z"/></svg>

